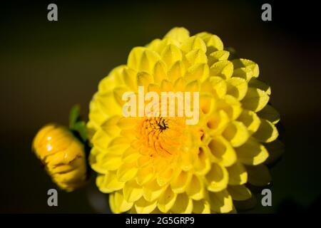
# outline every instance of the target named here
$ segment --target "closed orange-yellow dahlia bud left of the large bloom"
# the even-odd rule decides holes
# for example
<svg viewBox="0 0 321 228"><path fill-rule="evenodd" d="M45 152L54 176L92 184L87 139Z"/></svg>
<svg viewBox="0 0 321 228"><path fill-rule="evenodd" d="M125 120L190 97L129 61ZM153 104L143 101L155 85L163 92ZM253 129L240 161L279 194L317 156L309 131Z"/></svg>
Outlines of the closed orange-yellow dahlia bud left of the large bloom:
<svg viewBox="0 0 321 228"><path fill-rule="evenodd" d="M46 125L36 134L32 147L58 187L71 192L86 183L84 146L70 130Z"/></svg>

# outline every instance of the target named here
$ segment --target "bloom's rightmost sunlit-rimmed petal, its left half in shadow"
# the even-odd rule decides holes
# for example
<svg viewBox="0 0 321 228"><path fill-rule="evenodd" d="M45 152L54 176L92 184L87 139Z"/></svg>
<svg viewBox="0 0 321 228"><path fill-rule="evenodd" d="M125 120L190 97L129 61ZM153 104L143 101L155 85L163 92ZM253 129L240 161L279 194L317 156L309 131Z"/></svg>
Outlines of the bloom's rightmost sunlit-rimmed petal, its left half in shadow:
<svg viewBox="0 0 321 228"><path fill-rule="evenodd" d="M272 142L279 136L277 128L269 120L261 119L261 124L253 137L260 142Z"/></svg>

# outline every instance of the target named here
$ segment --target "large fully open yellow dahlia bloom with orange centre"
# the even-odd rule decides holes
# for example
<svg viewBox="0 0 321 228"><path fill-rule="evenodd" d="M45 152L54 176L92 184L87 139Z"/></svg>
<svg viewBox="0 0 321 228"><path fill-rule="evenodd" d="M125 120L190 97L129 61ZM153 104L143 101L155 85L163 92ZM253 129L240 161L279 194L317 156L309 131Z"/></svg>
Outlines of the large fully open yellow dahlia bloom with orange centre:
<svg viewBox="0 0 321 228"><path fill-rule="evenodd" d="M133 48L99 83L90 104L89 162L115 213L227 213L270 182L279 115L259 68L232 59L218 36L173 28ZM123 117L123 94L199 92L199 121ZM275 141L276 140L276 141ZM268 148L271 150L267 150ZM269 159L268 159L269 158ZM268 159L268 160L267 160Z"/></svg>

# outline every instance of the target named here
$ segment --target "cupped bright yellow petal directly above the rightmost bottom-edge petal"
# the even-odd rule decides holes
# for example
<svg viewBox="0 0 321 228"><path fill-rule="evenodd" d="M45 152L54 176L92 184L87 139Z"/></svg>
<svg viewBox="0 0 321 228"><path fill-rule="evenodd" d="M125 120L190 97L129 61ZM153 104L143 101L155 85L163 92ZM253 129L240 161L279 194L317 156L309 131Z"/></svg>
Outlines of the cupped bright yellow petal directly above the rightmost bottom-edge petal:
<svg viewBox="0 0 321 228"><path fill-rule="evenodd" d="M205 178L210 192L220 192L228 186L228 170L222 165L212 163L212 168Z"/></svg>

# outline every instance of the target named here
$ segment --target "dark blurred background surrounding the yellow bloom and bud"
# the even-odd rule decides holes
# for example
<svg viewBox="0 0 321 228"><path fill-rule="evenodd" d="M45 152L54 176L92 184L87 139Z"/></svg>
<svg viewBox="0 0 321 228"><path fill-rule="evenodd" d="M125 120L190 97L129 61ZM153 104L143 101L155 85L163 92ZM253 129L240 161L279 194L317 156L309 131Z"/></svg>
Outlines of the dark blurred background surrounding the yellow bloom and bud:
<svg viewBox="0 0 321 228"><path fill-rule="evenodd" d="M58 5L58 21L47 6ZM261 20L263 3L272 21ZM0 2L0 212L108 212L91 185L58 192L31 152L37 130L68 124L68 112L88 103L98 82L126 63L134 46L184 26L209 31L260 66L280 111L286 151L272 169L272 207L251 212L305 212L320 202L320 20L309 1L28 1Z"/></svg>

